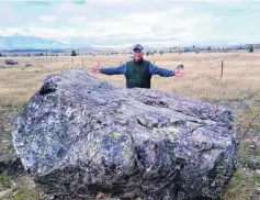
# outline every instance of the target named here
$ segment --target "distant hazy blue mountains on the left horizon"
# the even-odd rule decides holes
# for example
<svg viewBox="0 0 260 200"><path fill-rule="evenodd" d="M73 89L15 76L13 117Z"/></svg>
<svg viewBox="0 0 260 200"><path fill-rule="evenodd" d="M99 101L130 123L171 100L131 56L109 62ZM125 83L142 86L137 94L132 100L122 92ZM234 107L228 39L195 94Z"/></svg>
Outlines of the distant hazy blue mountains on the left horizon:
<svg viewBox="0 0 260 200"><path fill-rule="evenodd" d="M55 40L35 36L0 36L0 48L92 48L82 38L76 37L65 44Z"/></svg>

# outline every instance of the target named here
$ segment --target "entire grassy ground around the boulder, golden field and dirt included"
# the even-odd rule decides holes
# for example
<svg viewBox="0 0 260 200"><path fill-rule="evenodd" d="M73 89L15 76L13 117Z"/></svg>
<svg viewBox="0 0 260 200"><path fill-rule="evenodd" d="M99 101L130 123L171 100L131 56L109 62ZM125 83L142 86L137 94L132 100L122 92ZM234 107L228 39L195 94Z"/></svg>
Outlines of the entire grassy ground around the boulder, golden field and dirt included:
<svg viewBox="0 0 260 200"><path fill-rule="evenodd" d="M146 56L168 69L182 63L185 76L155 76L152 89L173 92L229 107L239 143L238 170L223 195L223 200L260 199L260 52L185 53ZM57 59L56 59L57 58ZM22 170L12 147L12 123L30 97L49 74L65 68L90 69L100 65L118 66L129 55L76 57L15 57L18 66L7 66L0 58L0 199L37 199L31 178ZM72 59L72 60L71 60ZM83 60L83 62L82 62ZM221 64L224 74L221 77ZM115 86L125 86L124 76L97 75Z"/></svg>

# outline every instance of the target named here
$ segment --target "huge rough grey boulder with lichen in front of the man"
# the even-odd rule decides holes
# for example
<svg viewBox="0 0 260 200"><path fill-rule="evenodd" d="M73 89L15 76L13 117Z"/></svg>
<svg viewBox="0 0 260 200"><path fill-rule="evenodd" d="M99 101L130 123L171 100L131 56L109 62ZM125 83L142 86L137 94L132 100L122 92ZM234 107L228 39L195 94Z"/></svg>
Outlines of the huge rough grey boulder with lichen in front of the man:
<svg viewBox="0 0 260 200"><path fill-rule="evenodd" d="M214 200L236 169L233 132L224 107L67 69L45 79L12 135L44 199Z"/></svg>

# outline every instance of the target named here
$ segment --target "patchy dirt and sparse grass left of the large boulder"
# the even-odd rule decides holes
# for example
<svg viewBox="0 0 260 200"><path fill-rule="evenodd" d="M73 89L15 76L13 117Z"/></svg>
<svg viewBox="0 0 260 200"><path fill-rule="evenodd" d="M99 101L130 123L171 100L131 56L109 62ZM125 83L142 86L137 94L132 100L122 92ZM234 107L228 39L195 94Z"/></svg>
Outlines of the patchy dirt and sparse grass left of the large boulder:
<svg viewBox="0 0 260 200"><path fill-rule="evenodd" d="M0 199L36 200L33 181L23 170L12 146L12 124L20 110L0 107Z"/></svg>

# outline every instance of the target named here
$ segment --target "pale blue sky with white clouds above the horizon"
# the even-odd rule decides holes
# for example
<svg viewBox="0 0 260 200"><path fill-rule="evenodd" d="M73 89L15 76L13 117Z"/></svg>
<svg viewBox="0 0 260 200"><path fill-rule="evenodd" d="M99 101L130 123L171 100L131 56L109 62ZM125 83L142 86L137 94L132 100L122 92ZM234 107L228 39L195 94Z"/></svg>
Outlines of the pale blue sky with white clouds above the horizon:
<svg viewBox="0 0 260 200"><path fill-rule="evenodd" d="M260 43L260 0L0 0L0 36L94 47Z"/></svg>

